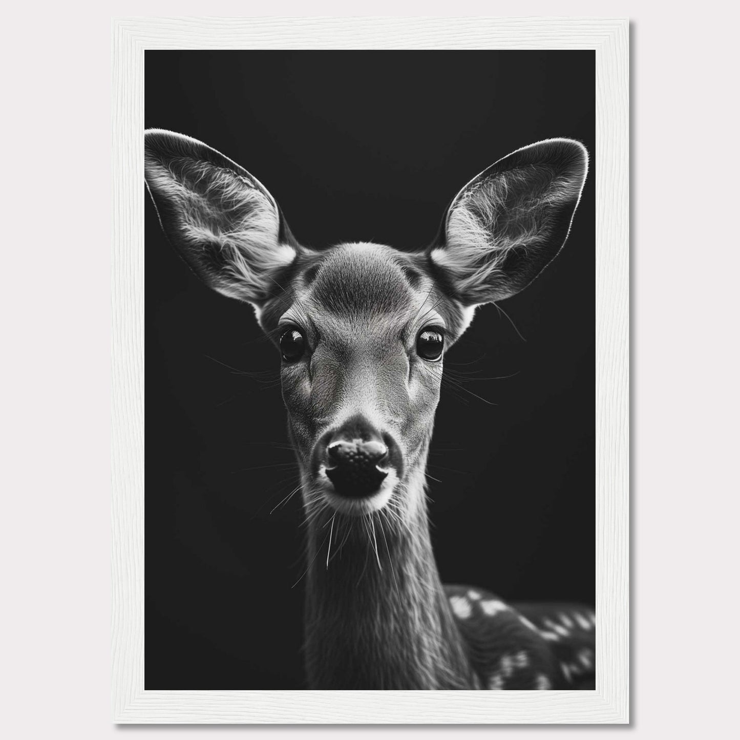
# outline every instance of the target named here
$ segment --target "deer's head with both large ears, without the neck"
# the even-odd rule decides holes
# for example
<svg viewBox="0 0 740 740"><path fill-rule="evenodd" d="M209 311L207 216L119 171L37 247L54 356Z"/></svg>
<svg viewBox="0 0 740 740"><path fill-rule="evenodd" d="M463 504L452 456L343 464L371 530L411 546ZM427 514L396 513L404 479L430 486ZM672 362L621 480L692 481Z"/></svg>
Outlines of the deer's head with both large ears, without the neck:
<svg viewBox="0 0 740 740"><path fill-rule="evenodd" d="M251 303L282 358L283 400L309 511L361 517L423 506L445 352L477 306L519 292L568 236L585 148L549 139L465 185L427 249L300 246L245 169L200 141L146 133L161 225L212 289Z"/></svg>

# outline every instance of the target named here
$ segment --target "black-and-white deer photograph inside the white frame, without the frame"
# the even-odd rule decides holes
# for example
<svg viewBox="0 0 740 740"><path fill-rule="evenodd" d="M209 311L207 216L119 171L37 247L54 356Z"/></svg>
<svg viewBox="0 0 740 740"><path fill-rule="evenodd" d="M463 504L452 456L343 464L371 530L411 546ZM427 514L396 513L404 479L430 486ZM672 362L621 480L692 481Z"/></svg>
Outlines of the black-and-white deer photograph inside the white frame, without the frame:
<svg viewBox="0 0 740 740"><path fill-rule="evenodd" d="M594 690L593 50L144 54L146 690Z"/></svg>

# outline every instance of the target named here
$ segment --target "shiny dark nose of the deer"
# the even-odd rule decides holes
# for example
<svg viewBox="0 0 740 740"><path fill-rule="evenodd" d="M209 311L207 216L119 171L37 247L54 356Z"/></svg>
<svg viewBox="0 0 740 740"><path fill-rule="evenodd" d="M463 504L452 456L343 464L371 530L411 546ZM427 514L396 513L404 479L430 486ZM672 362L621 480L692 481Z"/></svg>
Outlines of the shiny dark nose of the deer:
<svg viewBox="0 0 740 740"><path fill-rule="evenodd" d="M388 475L380 465L388 462L388 448L380 440L332 440L326 448L326 475L340 496L359 498L380 488Z"/></svg>

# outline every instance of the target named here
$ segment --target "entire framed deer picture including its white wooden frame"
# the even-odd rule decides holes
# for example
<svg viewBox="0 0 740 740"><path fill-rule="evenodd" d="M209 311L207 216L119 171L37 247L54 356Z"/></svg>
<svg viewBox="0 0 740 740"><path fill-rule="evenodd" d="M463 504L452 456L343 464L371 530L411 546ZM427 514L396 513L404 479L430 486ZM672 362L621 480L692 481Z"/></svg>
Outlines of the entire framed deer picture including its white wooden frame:
<svg viewBox="0 0 740 740"><path fill-rule="evenodd" d="M118 19L113 84L115 721L627 722L628 21Z"/></svg>

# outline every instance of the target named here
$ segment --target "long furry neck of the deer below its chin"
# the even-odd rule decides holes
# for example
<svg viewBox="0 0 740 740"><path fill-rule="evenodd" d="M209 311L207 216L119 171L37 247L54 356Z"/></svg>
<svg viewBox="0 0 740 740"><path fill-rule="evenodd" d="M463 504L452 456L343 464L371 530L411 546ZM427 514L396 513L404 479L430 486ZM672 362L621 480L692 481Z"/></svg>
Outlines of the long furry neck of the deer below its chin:
<svg viewBox="0 0 740 740"><path fill-rule="evenodd" d="M358 521L357 536L346 539L328 566L329 527L309 528L306 667L312 688L475 685L431 548L424 463L407 482L409 500L417 502L408 527L381 531L376 515L373 538L371 529L359 531Z"/></svg>

